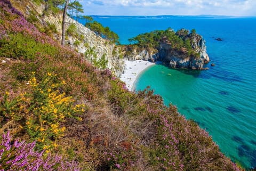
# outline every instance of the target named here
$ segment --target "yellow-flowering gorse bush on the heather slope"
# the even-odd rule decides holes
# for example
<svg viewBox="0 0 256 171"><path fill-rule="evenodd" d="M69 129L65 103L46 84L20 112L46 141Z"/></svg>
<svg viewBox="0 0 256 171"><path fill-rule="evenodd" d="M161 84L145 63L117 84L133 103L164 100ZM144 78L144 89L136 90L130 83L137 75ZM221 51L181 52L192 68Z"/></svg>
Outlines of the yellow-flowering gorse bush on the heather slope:
<svg viewBox="0 0 256 171"><path fill-rule="evenodd" d="M0 119L14 119L21 123L31 140L37 140L38 147L47 149L54 147L54 140L63 136L66 127L61 123L67 117L76 117L84 112L85 105L74 105L73 97L66 96L59 89L66 84L64 80L58 82L57 75L47 73L41 82L35 78L35 72L29 79L31 92L20 94L14 99L8 99L9 92L5 92L0 103Z"/></svg>

